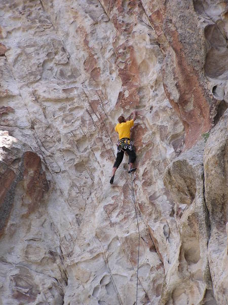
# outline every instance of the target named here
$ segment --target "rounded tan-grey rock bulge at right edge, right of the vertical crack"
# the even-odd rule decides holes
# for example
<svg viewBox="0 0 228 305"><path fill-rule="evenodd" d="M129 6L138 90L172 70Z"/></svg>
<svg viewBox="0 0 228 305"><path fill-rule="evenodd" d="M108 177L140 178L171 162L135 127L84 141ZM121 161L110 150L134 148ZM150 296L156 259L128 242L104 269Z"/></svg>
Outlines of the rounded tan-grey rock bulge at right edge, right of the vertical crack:
<svg viewBox="0 0 228 305"><path fill-rule="evenodd" d="M218 304L225 304L228 295L227 268L223 268L227 265L227 118L226 110L211 131L204 151L205 201L210 221L208 259Z"/></svg>

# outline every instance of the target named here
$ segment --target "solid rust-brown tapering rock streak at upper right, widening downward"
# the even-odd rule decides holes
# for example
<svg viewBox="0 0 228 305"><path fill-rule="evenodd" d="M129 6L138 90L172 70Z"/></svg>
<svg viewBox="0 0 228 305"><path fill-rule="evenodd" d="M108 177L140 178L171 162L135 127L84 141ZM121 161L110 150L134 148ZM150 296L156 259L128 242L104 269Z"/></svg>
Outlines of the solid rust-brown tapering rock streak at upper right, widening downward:
<svg viewBox="0 0 228 305"><path fill-rule="evenodd" d="M197 72L187 64L185 54L176 31L171 32L172 48L175 51L175 79L179 92L176 103L170 96L166 85L164 89L170 104L182 120L185 128L185 149L192 147L201 135L210 130L212 118L206 90L201 86Z"/></svg>

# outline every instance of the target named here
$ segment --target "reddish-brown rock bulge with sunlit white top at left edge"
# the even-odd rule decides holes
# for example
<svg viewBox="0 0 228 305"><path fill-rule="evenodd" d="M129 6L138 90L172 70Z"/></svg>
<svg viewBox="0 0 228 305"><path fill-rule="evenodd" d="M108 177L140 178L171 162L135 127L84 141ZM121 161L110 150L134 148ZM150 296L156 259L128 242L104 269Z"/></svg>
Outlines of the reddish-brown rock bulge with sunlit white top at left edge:
<svg viewBox="0 0 228 305"><path fill-rule="evenodd" d="M32 205L39 205L49 189L41 158L32 151L26 151L29 148L7 132L1 132L1 233L10 217L15 191L20 182L24 184L24 193L30 196L30 202L25 199L26 195L22 197L28 212L34 208Z"/></svg>

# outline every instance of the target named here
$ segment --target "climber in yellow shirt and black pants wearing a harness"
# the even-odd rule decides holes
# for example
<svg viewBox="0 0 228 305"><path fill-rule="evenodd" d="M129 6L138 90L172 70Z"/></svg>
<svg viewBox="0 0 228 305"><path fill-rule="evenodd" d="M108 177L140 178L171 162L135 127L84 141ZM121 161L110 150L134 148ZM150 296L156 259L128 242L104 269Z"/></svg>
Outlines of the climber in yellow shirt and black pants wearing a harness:
<svg viewBox="0 0 228 305"><path fill-rule="evenodd" d="M128 173L134 172L136 170L136 168L132 168L133 163L136 159L136 154L133 142L130 140L130 130L134 125L134 120L136 119L137 111L134 110L130 115L132 114L133 118L131 120L126 120L123 115L118 117L119 124L117 124L115 128L115 131L119 134L119 140L117 142L117 158L112 168L112 176L109 181L110 184L112 184L114 181L116 170L118 169L124 158L125 151L129 156Z"/></svg>

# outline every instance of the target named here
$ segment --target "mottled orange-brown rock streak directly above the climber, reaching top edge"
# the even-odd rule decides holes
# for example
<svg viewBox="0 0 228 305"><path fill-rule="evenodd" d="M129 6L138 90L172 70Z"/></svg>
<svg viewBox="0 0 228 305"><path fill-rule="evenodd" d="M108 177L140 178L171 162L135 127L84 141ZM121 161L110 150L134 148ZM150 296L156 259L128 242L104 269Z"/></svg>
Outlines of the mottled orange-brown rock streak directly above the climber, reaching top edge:
<svg viewBox="0 0 228 305"><path fill-rule="evenodd" d="M115 5L106 3L106 11L110 12L110 18L117 29L117 35L113 41L113 48L116 53L116 64L118 66L119 76L122 80L122 90L119 94L117 106L126 109L126 107L135 107L139 104L138 86L139 72L138 65L134 56L134 47L131 45L131 35L137 21L137 1L125 3L119 0ZM116 10L115 10L116 9ZM113 15L112 15L113 12ZM136 13L137 12L137 13ZM128 17L129 23L123 22ZM124 36L124 43L119 44Z"/></svg>

